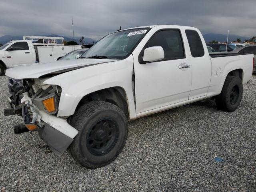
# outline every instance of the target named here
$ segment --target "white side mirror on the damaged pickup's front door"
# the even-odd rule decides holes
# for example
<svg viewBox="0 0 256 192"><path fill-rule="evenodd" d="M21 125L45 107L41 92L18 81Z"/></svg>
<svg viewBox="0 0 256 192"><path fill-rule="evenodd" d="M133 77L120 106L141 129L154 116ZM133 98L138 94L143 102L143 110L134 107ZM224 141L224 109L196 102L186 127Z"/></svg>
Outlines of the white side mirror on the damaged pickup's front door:
<svg viewBox="0 0 256 192"><path fill-rule="evenodd" d="M164 58L164 49L161 46L149 47L144 50L142 57L143 64L147 62L159 61Z"/></svg>

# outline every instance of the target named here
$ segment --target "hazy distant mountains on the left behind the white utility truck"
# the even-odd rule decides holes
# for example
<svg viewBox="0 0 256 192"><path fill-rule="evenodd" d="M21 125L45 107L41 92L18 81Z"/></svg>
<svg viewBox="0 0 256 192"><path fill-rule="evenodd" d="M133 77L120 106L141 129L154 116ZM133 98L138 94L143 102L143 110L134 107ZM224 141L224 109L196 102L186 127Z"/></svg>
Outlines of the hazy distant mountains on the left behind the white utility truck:
<svg viewBox="0 0 256 192"><path fill-rule="evenodd" d="M64 38L64 41L72 41L73 38L70 38L70 37L65 37L65 36L59 36L59 35L56 35L56 34L50 34L50 35L33 35L33 36L46 36L46 37L63 37ZM4 35L2 37L0 37L0 43L2 44L6 44L7 42L9 42L10 40L22 40L23 39L23 36L12 36L12 35ZM76 37L75 38L75 41L80 44L79 42L80 38ZM97 40L94 40L92 38L84 38L84 44L93 44L97 42Z"/></svg>

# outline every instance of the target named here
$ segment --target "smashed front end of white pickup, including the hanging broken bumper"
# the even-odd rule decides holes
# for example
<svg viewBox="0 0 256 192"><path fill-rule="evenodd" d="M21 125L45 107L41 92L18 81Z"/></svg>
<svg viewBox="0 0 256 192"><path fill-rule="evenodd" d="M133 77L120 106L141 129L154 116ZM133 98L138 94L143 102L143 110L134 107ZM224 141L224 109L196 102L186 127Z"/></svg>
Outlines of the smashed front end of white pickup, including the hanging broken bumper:
<svg viewBox="0 0 256 192"><path fill-rule="evenodd" d="M60 155L70 145L78 131L70 126L65 118L57 117L61 88L44 84L46 79L9 78L11 96L8 98L9 106L4 110L4 115L22 116L24 123L14 125L14 133L38 131L40 138ZM73 131L70 132L70 129Z"/></svg>

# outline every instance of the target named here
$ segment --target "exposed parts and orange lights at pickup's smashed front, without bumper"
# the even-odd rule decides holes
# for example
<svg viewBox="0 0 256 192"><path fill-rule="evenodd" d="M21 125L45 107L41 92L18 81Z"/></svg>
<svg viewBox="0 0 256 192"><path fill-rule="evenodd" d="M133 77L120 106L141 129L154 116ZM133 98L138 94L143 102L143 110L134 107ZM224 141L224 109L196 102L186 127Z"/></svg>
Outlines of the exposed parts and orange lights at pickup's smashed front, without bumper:
<svg viewBox="0 0 256 192"><path fill-rule="evenodd" d="M11 96L10 107L4 114L22 116L29 130L37 130L43 126L39 110L47 114L56 114L60 102L61 88L46 85L47 78L16 80L9 78L8 86ZM32 126L33 125L33 126Z"/></svg>

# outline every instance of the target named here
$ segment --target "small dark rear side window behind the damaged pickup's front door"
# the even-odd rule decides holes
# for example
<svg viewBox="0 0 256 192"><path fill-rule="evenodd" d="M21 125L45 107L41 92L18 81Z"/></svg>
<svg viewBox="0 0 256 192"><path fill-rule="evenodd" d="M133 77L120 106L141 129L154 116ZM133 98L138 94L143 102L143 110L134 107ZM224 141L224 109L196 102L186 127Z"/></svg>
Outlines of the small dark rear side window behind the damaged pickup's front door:
<svg viewBox="0 0 256 192"><path fill-rule="evenodd" d="M198 32L194 30L186 30L188 44L192 57L204 56L204 47Z"/></svg>

